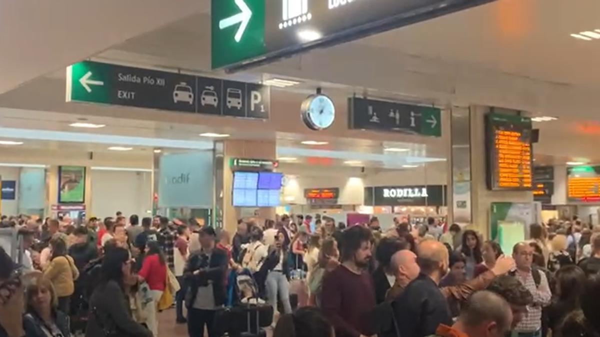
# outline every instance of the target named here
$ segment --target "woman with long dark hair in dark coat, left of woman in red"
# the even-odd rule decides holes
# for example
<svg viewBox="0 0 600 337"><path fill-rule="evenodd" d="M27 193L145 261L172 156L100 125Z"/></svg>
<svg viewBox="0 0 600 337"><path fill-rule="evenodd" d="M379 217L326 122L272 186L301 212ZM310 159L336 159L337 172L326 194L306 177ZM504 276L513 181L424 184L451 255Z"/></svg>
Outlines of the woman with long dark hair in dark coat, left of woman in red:
<svg viewBox="0 0 600 337"><path fill-rule="evenodd" d="M100 282L90 297L91 315L86 337L152 336L150 330L131 316L125 287L133 277L127 249L115 247L107 250L100 267Z"/></svg>

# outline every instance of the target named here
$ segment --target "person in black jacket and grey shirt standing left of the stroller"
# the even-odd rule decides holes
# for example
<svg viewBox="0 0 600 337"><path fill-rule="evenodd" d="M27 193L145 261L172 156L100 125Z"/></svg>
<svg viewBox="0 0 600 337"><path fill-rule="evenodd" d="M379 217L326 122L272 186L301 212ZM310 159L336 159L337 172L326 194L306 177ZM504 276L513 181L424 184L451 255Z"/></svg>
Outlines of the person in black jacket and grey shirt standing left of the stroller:
<svg viewBox="0 0 600 337"><path fill-rule="evenodd" d="M215 315L226 302L225 272L229 261L223 250L215 249L216 237L213 228L202 228L199 236L202 249L190 255L184 269L190 336L203 336L206 325L208 336L217 337Z"/></svg>

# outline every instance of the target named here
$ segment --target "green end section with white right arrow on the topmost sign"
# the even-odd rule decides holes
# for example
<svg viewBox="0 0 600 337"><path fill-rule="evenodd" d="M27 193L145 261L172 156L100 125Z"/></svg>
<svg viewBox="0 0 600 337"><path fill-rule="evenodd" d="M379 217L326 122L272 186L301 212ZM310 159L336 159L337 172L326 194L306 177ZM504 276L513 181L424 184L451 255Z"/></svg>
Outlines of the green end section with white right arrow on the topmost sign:
<svg viewBox="0 0 600 337"><path fill-rule="evenodd" d="M212 68L266 52L265 0L212 0Z"/></svg>

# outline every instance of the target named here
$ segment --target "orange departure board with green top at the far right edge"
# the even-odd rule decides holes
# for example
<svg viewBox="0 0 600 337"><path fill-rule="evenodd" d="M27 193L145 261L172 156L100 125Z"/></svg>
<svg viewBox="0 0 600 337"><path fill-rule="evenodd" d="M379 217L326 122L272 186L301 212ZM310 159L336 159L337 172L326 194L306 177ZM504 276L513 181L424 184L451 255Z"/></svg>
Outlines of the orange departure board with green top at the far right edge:
<svg viewBox="0 0 600 337"><path fill-rule="evenodd" d="M571 202L600 201L600 167L577 166L567 169L567 197Z"/></svg>

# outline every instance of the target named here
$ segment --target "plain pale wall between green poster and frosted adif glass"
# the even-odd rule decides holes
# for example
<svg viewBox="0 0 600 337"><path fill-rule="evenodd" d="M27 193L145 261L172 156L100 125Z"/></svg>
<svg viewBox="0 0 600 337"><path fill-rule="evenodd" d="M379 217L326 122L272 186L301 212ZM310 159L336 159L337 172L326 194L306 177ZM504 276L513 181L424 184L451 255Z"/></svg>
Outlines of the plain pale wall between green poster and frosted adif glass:
<svg viewBox="0 0 600 337"><path fill-rule="evenodd" d="M152 174L133 171L92 170L92 209L89 216L124 216L142 218L152 210Z"/></svg>

